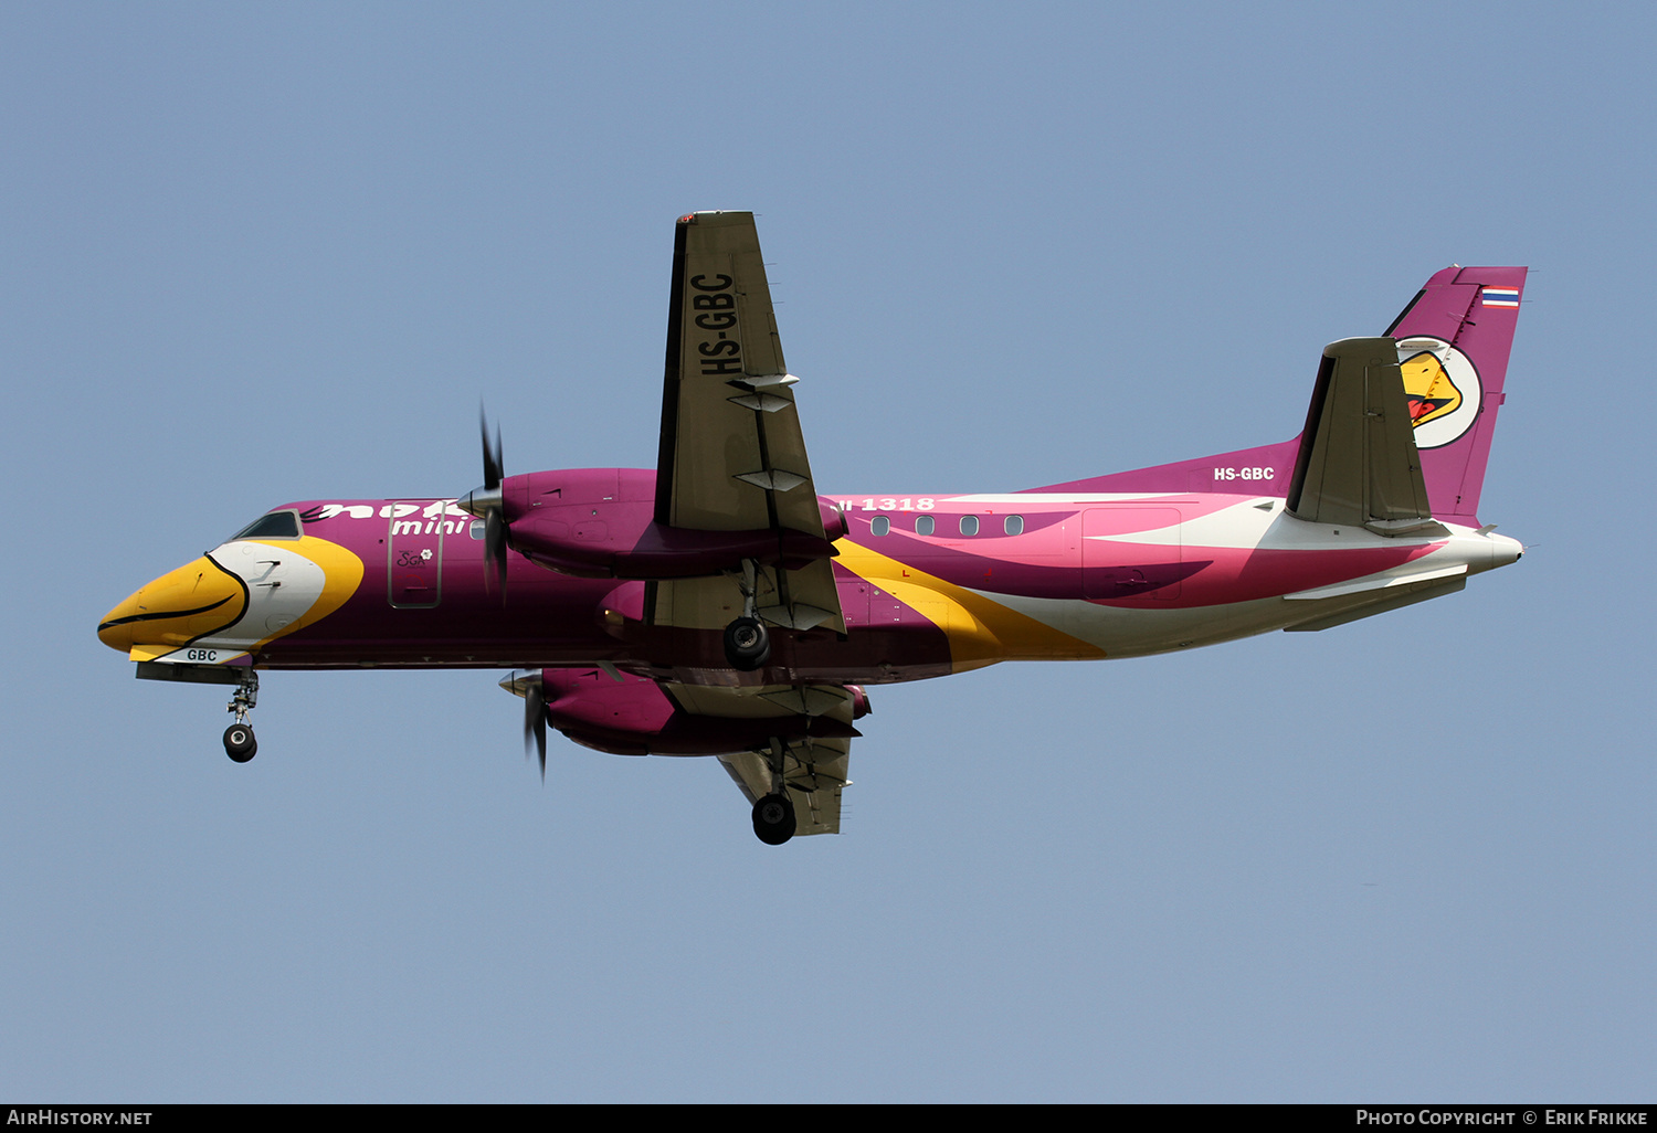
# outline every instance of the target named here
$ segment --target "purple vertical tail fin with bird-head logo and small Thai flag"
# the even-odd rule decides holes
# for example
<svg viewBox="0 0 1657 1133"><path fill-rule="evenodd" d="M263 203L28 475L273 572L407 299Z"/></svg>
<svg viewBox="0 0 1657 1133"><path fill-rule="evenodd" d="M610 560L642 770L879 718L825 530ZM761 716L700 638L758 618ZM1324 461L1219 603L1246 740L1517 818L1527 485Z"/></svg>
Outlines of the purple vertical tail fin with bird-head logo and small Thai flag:
<svg viewBox="0 0 1657 1133"><path fill-rule="evenodd" d="M1448 267L1387 328L1433 515L1476 523L1524 292L1521 267Z"/></svg>

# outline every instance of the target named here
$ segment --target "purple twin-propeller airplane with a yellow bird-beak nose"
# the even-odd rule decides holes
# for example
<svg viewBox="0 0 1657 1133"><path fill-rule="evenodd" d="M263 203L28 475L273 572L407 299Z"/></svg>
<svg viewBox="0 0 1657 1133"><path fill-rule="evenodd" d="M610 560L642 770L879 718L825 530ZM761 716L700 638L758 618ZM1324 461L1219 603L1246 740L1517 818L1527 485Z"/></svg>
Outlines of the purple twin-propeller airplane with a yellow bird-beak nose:
<svg viewBox="0 0 1657 1133"><path fill-rule="evenodd" d="M769 845L840 832L867 687L1001 661L1317 631L1461 590L1524 548L1478 520L1521 267L1448 267L1324 348L1299 436L993 494L822 494L749 212L678 220L655 469L454 499L283 504L111 610L138 676L510 669L525 752L713 755Z"/></svg>

